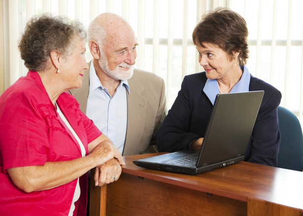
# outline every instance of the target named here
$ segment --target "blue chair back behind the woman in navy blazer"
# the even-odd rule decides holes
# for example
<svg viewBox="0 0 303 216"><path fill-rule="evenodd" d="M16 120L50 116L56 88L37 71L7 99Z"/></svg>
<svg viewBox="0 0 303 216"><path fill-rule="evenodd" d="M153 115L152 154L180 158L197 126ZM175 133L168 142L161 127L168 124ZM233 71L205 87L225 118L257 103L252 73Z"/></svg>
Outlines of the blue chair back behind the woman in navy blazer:
<svg viewBox="0 0 303 216"><path fill-rule="evenodd" d="M281 106L278 107L278 119L281 142L277 167L303 171L301 124L295 114Z"/></svg>

